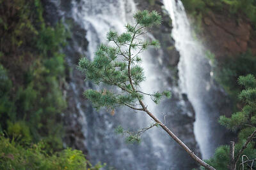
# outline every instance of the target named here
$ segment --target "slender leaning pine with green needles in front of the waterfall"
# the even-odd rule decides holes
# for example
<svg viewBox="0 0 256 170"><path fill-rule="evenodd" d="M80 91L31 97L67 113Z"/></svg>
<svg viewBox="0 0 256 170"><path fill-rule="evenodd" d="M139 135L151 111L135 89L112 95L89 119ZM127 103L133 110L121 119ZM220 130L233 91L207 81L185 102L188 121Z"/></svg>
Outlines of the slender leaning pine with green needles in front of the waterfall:
<svg viewBox="0 0 256 170"><path fill-rule="evenodd" d="M140 53L148 46L158 47L158 41L143 41L140 36L147 33L147 28L161 24L161 15L156 11L138 11L134 14L135 25L125 25L126 31L118 34L116 31L108 32L110 44L99 46L92 61L85 57L79 61L78 68L82 71L87 80L97 85L106 85L106 89L101 91L86 90L86 96L95 108L108 108L112 111L116 107L127 106L136 111L144 111L155 122L150 127L141 129L138 132L127 132L121 127L116 130L119 133L128 134L127 141L140 141L140 134L154 126L162 127L168 135L179 143L182 148L200 165L207 169L214 169L193 153L180 139L173 134L166 125L158 120L143 103L144 96L150 96L154 103L159 103L163 96L170 97L170 92L143 92L140 83L145 80L143 68L140 66ZM108 89L112 89L109 90ZM113 90L116 87L119 90Z"/></svg>

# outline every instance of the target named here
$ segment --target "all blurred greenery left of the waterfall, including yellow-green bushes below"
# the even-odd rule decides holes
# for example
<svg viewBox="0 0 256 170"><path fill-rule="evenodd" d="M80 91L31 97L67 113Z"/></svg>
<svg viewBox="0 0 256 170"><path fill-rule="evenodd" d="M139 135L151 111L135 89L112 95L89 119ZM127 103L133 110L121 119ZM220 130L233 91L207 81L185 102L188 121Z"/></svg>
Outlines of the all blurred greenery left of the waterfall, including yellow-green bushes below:
<svg viewBox="0 0 256 170"><path fill-rule="evenodd" d="M92 168L63 150L67 36L45 24L40 0L0 1L0 169Z"/></svg>

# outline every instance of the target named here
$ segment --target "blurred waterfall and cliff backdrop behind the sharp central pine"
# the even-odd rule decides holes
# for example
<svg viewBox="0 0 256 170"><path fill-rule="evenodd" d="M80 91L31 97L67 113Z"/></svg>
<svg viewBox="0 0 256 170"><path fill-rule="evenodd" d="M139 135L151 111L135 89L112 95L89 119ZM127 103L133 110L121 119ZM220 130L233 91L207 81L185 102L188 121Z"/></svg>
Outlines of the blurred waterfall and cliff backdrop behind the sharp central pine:
<svg viewBox="0 0 256 170"><path fill-rule="evenodd" d="M172 91L161 104L146 101L148 108L203 159L236 141L237 132L218 118L243 106L238 76L256 74L256 1L0 0L3 169L99 169L98 162L104 169L198 167L157 127L140 144L125 143L118 125L136 130L152 120L128 108L96 111L83 96L100 87L84 81L77 62L92 60L107 32L125 31L138 10L163 17L143 37L158 39L161 48L141 54L141 87Z"/></svg>

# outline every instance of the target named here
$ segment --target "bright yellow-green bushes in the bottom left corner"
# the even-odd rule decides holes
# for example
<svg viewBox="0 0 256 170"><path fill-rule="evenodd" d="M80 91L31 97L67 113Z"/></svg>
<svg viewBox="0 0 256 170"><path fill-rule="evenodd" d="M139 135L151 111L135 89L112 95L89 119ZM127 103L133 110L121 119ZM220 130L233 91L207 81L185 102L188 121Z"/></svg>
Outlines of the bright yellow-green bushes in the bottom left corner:
<svg viewBox="0 0 256 170"><path fill-rule="evenodd" d="M102 165L92 166L79 150L67 148L61 152L48 155L45 144L24 146L0 136L0 169L100 169Z"/></svg>

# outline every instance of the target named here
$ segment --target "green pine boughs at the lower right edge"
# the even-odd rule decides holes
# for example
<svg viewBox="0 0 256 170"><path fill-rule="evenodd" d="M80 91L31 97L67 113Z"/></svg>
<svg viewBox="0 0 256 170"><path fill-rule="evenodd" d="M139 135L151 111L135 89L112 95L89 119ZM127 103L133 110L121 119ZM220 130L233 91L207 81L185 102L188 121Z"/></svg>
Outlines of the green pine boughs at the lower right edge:
<svg viewBox="0 0 256 170"><path fill-rule="evenodd" d="M239 94L239 99L245 104L245 106L241 111L234 113L232 117L227 118L225 116L221 116L219 120L220 124L225 125L228 129L239 131L239 140L235 145L235 157L239 160L237 162L237 169L241 166L242 155L246 155L249 160L253 160L256 157L256 143L254 140L250 141L247 148L243 150L240 157L238 157L244 143L256 130L256 79L252 74L248 74L247 76L239 76L238 83L244 87L244 90ZM207 160L207 163L216 169L227 169L230 162L229 154L228 146L220 146L220 148L216 150L214 157ZM255 167L255 165L253 167ZM244 169L250 169L250 167L245 166Z"/></svg>

